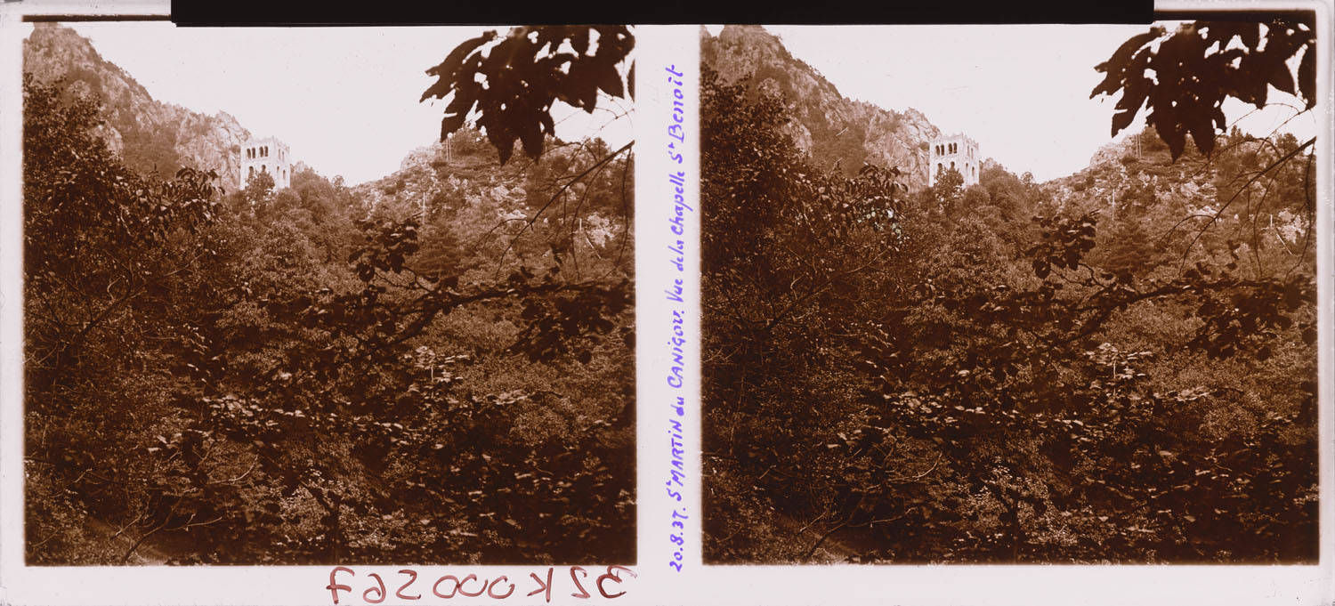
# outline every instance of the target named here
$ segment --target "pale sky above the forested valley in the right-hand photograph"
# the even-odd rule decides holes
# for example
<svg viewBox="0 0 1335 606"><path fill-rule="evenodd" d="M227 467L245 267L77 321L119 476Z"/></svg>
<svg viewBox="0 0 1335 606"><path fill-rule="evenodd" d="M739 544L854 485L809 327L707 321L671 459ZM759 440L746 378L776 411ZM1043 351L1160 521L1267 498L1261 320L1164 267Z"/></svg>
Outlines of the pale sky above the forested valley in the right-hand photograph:
<svg viewBox="0 0 1335 606"><path fill-rule="evenodd" d="M945 133L963 132L1017 175L1071 175L1111 141L1116 100L1089 99L1093 67L1145 25L766 27L840 93L886 109L916 108ZM718 32L718 28L710 28ZM1272 99L1283 93L1271 89ZM1292 97L1288 97L1292 99ZM1296 104L1296 101L1294 101ZM1251 105L1224 107L1235 120ZM1240 124L1268 133L1294 113L1267 108ZM1139 132L1145 112L1120 132ZM1286 129L1315 133L1311 112Z"/></svg>

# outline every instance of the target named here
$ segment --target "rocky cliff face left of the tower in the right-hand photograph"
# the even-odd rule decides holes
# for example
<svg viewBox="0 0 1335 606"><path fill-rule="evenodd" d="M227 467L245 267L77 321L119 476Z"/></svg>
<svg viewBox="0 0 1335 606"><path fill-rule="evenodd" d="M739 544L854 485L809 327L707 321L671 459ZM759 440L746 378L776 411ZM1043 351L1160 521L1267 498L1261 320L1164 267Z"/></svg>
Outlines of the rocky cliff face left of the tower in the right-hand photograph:
<svg viewBox="0 0 1335 606"><path fill-rule="evenodd" d="M909 187L926 187L928 145L941 131L917 109L896 112L840 95L814 68L793 57L758 25L728 25L718 36L701 29L701 60L725 83L749 80L784 95L793 141L824 167L845 174L862 162L897 167Z"/></svg>

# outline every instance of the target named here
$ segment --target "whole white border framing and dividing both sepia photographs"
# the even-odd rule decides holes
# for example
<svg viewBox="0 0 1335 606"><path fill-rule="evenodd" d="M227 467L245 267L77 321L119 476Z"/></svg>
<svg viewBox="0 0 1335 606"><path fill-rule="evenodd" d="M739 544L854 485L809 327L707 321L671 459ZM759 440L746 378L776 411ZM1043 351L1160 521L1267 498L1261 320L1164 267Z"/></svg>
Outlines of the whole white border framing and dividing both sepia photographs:
<svg viewBox="0 0 1335 606"><path fill-rule="evenodd" d="M21 15L27 13L135 13L164 15L164 1L121 1L80 5L45 3L41 5L0 5L0 603L52 605L135 605L135 603L330 603L324 585L328 567L25 567L23 566L23 467L21 467L21 187L20 187L20 128L21 95L19 89ZM1316 141L1318 158L1332 158L1332 128L1330 109L1331 92L1331 7L1318 4L1160 4L1167 9L1188 8L1315 8L1318 11L1318 48L1324 61L1318 81L1322 115L1320 136ZM757 15L762 17L761 15ZM1307 605L1335 603L1331 551L1335 523L1335 497L1332 497L1332 415L1335 396L1335 324L1332 324L1332 286L1335 286L1335 250L1332 250L1332 204L1330 162L1318 163L1318 259L1319 267L1319 368L1320 368L1320 479L1322 479L1322 565L1319 566L710 566L700 565L700 519L694 518L688 537L688 555L681 574L666 566L669 546L666 495L662 482L666 474L668 388L662 379L669 363L668 334L663 323L666 307L662 304L662 278L668 274L665 211L669 200L663 175L668 172L663 113L663 83L655 77L663 64L677 63L689 68L688 77L698 73L698 28L696 27L639 27L637 28L637 212L635 212L635 275L637 275L637 372L639 430L638 446L638 578L621 589L627 590L619 603L1060 603L1060 605ZM693 108L698 104L692 105ZM698 137L696 128L688 136ZM696 139L698 140L698 139ZM698 155L693 155L698 159ZM698 168L698 167L696 167ZM694 170L690 175L698 175ZM696 207L698 211L698 206ZM690 258L698 267L698 215L692 216ZM698 275L698 274L697 274ZM698 282L697 282L698 284ZM698 286L688 290L694 298L698 322ZM689 296L689 295L688 295ZM698 360L698 323L693 327L693 348L689 355ZM698 368L689 375L694 379L696 402L688 411L694 415L694 435L688 446L689 475L694 491L689 499L700 510L700 418ZM398 567L354 567L354 585L364 589L364 574L379 573L387 582L398 579ZM475 573L495 578L506 574L511 581L527 579L529 573L542 573L538 567L418 567L422 579L415 591L426 593L418 602L394 598L384 603L445 603L455 602L431 598L429 582L441 574L463 577ZM565 569L558 567L559 581ZM590 566L593 575L601 574ZM340 577L344 579L346 577ZM346 582L346 581L343 581ZM519 595L531 589L519 581L515 597L505 602L534 603L541 595L523 599ZM565 589L565 591L561 591ZM561 585L554 591L553 603L590 603L598 598L581 601L570 598L570 586ZM392 587L391 587L392 593ZM486 598L467 602L487 602ZM342 603L364 603L356 595L344 594ZM537 602L541 603L541 602Z"/></svg>

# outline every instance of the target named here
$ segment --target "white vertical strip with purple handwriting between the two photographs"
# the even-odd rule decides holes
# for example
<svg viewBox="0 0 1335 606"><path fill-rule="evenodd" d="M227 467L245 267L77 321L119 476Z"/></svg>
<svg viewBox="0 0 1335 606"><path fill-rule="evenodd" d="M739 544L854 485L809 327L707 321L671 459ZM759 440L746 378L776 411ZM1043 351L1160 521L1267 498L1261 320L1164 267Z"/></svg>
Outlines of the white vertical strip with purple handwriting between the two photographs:
<svg viewBox="0 0 1335 606"><path fill-rule="evenodd" d="M673 68L681 77L668 72ZM676 81L674 81L676 80ZM653 602L670 603L676 599L682 581L700 570L700 28L692 25L638 27L635 29L635 348L639 375L637 420L639 423L639 557L641 581L646 585L641 599L653 595ZM682 123L673 119L674 93L685 108ZM682 140L669 136L669 127ZM669 147L672 145L672 147ZM673 155L681 156L681 163ZM672 231L676 218L676 186L669 174L685 174L685 204L682 235ZM669 247L685 242L682 267L678 271L677 254ZM682 279L684 303L670 302L665 291L673 280ZM684 340L686 370L682 387L668 383L673 360L674 311L685 316ZM685 416L672 410L676 398L686 402ZM682 495L677 502L669 497L672 443L669 419L678 419L685 431L685 487L672 485ZM673 510L688 519L682 546L670 542ZM677 562L682 551L678 573L669 562ZM637 603L639 603L637 601Z"/></svg>

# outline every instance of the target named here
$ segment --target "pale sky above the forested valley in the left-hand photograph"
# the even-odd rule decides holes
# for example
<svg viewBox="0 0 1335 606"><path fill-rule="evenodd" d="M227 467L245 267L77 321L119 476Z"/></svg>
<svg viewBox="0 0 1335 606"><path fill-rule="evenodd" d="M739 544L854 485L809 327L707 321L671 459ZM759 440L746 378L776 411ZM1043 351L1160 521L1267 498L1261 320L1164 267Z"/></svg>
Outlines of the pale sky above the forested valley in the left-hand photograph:
<svg viewBox="0 0 1335 606"><path fill-rule="evenodd" d="M435 81L426 69L461 41L497 29L67 25L154 99L208 115L226 111L252 136L275 136L295 160L348 184L396 171L405 155L437 139L445 103L418 103ZM611 112L586 116L557 105L558 120L570 116L557 125L563 139L593 133L619 147L631 136L629 116L613 120Z"/></svg>

